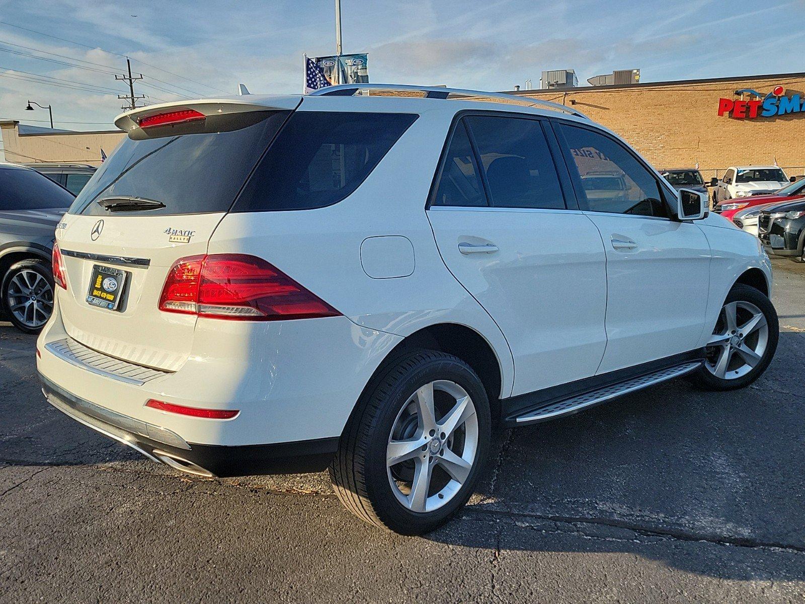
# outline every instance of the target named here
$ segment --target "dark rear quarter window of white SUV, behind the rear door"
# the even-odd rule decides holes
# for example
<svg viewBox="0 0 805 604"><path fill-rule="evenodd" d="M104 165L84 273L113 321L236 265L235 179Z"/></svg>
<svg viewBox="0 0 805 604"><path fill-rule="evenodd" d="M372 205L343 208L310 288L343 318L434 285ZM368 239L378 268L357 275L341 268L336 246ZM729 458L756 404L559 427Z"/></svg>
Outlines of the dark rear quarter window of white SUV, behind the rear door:
<svg viewBox="0 0 805 604"><path fill-rule="evenodd" d="M233 212L338 203L358 188L416 118L297 111L259 163Z"/></svg>

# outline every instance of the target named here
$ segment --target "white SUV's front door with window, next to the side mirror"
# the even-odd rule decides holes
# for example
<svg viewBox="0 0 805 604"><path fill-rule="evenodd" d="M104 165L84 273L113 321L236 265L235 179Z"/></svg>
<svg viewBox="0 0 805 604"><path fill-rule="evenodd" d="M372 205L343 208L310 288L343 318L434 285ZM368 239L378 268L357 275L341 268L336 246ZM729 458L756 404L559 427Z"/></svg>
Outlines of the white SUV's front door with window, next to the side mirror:
<svg viewBox="0 0 805 604"><path fill-rule="evenodd" d="M598 373L694 350L707 307L710 247L675 219L675 193L628 147L596 128L557 122L580 208L601 233L607 258L607 349ZM591 173L621 175L626 195L582 185ZM670 203L671 202L671 203Z"/></svg>

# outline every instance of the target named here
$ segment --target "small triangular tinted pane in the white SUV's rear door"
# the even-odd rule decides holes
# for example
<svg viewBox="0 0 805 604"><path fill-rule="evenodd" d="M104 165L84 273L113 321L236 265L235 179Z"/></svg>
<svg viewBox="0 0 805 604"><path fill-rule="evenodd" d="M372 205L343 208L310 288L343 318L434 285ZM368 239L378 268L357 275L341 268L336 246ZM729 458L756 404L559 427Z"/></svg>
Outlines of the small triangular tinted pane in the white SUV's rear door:
<svg viewBox="0 0 805 604"><path fill-rule="evenodd" d="M439 186L431 197L431 205L487 205L475 154L463 121L456 124L450 146L444 154Z"/></svg>

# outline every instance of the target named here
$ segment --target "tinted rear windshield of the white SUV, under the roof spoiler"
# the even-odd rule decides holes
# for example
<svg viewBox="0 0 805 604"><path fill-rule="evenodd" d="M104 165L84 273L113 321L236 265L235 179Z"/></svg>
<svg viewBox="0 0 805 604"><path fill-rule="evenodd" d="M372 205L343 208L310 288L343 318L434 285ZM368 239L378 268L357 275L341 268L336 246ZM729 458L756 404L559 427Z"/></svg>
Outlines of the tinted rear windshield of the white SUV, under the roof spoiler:
<svg viewBox="0 0 805 604"><path fill-rule="evenodd" d="M123 139L70 208L72 214L106 216L95 203L107 197L142 197L165 205L137 214L226 212L288 111L249 114L238 130Z"/></svg>

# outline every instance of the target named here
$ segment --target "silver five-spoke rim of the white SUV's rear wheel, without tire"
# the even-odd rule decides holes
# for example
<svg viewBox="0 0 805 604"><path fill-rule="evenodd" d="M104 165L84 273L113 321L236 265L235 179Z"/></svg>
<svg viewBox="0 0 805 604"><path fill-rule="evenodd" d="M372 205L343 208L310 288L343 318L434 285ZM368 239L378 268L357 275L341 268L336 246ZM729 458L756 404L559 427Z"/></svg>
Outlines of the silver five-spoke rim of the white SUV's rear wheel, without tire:
<svg viewBox="0 0 805 604"><path fill-rule="evenodd" d="M420 387L397 415L386 447L389 483L411 511L448 503L469 477L478 446L473 399L455 382Z"/></svg>

